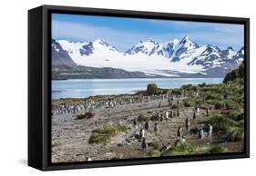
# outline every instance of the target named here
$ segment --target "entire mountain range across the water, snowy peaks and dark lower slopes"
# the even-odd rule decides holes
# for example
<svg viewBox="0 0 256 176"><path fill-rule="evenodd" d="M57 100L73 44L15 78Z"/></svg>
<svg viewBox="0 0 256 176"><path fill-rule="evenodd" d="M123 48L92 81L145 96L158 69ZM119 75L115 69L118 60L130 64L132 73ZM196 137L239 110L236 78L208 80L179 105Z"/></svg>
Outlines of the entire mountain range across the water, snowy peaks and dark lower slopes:
<svg viewBox="0 0 256 176"><path fill-rule="evenodd" d="M99 39L52 40L56 78L223 77L243 59L243 47L236 52L231 47L200 46L189 36L167 43L140 41L126 52Z"/></svg>

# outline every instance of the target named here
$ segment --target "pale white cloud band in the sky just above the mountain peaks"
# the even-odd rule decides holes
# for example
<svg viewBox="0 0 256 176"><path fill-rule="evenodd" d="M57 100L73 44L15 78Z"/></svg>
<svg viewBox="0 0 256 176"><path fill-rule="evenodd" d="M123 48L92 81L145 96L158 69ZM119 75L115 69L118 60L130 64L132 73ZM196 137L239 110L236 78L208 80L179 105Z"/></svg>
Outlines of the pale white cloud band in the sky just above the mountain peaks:
<svg viewBox="0 0 256 176"><path fill-rule="evenodd" d="M148 20L152 23L165 24L159 20ZM105 40L118 48L120 51L126 51L133 44L137 44L140 40L153 39L157 42L167 42L174 38L181 39L185 35L189 35L198 44L213 44L220 47L233 46L237 50L243 45L243 28L241 25L234 24L206 24L191 22L173 22L182 29L188 28L189 32L169 32L167 34L156 33L131 33L121 31L110 27L96 27L88 24L70 23L63 21L53 21L52 34L57 39L75 39L80 41L94 41L97 38ZM173 24L172 23L172 24ZM209 28L209 31L207 29ZM197 30L198 29L198 30Z"/></svg>

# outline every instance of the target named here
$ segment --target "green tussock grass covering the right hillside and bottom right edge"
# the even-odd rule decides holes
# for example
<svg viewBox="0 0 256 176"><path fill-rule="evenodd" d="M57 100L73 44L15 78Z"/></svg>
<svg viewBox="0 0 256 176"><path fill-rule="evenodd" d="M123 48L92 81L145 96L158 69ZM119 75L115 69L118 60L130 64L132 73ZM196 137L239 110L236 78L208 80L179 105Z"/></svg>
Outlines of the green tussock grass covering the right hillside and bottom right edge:
<svg viewBox="0 0 256 176"><path fill-rule="evenodd" d="M198 86L187 84L179 89L172 89L171 93L189 94L189 99L180 102L179 106L193 107L200 104L201 107L209 109L209 119L203 123L210 123L213 126L213 132L227 142L241 142L244 139L243 64L229 75L225 77L223 83L202 83ZM196 95L196 93L199 94ZM174 106L179 108L176 103ZM197 146L189 142L181 142L167 151L162 151L159 143L151 143L150 147L149 157L229 152L222 145Z"/></svg>

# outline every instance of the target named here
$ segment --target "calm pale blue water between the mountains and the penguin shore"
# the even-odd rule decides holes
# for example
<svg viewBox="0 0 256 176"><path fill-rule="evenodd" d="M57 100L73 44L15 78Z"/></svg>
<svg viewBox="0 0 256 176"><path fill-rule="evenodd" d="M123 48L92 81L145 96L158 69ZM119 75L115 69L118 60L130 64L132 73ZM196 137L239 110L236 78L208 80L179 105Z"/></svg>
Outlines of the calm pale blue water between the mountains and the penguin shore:
<svg viewBox="0 0 256 176"><path fill-rule="evenodd" d="M148 83L160 88L179 88L183 84L221 83L223 78L134 78L134 79L70 79L52 81L52 99L87 98L93 95L136 93Z"/></svg>

